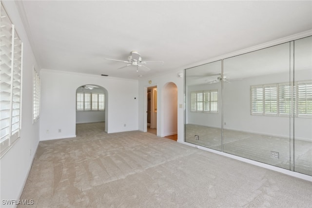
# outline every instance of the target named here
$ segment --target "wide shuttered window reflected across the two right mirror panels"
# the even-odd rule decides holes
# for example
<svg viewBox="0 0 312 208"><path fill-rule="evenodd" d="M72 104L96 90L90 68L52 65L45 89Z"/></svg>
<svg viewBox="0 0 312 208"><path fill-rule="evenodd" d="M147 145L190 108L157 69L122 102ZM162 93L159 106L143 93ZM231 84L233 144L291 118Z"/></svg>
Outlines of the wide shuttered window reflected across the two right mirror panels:
<svg viewBox="0 0 312 208"><path fill-rule="evenodd" d="M312 117L312 81L251 86L251 114Z"/></svg>

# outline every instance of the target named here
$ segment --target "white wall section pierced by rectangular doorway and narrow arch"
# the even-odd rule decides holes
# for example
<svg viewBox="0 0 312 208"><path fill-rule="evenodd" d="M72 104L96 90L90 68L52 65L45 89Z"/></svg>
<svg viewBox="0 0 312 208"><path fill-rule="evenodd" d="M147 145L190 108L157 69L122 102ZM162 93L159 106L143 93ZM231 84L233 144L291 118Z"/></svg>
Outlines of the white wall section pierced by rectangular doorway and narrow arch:
<svg viewBox="0 0 312 208"><path fill-rule="evenodd" d="M184 79L178 77L178 73L183 73L183 70L168 73L153 77L141 77L139 79L139 103L138 103L138 129L142 132L147 131L147 88L157 86L157 135L165 136L164 119L166 108L163 99L163 87L168 82L173 82L177 86L177 134L178 141L184 141L184 110L183 110L183 95L184 95ZM151 83L149 83L151 80ZM181 105L181 108L180 108Z"/></svg>

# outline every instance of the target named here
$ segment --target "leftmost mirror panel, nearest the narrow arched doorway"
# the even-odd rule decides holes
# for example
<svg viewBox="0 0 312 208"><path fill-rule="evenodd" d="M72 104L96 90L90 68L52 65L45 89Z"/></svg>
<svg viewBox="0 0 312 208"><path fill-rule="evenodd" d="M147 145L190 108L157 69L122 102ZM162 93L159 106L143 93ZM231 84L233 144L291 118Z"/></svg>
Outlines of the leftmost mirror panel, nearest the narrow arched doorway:
<svg viewBox="0 0 312 208"><path fill-rule="evenodd" d="M221 151L221 61L185 70L185 141Z"/></svg>

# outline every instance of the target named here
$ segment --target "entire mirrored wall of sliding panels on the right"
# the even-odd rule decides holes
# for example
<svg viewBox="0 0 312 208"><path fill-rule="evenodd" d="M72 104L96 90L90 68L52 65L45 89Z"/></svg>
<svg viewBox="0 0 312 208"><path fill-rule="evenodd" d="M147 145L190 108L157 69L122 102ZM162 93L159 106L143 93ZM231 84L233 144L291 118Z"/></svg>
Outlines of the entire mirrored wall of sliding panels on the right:
<svg viewBox="0 0 312 208"><path fill-rule="evenodd" d="M186 142L312 175L312 37L186 69L185 99Z"/></svg>

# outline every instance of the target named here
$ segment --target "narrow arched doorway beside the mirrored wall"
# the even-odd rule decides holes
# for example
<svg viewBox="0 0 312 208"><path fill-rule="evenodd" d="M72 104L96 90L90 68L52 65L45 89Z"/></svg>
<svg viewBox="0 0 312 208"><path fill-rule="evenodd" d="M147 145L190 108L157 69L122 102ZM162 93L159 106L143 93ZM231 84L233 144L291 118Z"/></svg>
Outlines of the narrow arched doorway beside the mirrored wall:
<svg viewBox="0 0 312 208"><path fill-rule="evenodd" d="M163 87L163 136L177 140L177 86L168 82Z"/></svg>

